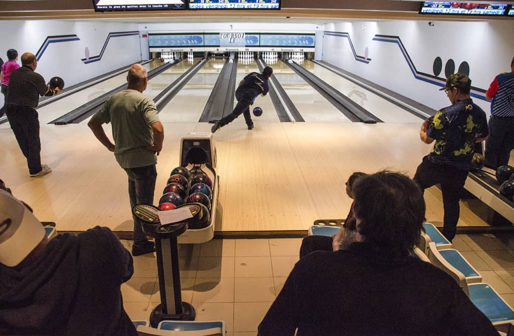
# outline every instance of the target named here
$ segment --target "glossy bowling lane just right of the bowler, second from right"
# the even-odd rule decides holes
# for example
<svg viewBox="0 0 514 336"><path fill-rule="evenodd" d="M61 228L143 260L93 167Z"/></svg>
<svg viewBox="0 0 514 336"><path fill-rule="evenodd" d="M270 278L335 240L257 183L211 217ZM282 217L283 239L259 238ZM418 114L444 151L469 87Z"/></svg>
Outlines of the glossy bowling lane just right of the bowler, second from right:
<svg viewBox="0 0 514 336"><path fill-rule="evenodd" d="M306 122L351 122L284 62L279 61L272 68L273 74Z"/></svg>

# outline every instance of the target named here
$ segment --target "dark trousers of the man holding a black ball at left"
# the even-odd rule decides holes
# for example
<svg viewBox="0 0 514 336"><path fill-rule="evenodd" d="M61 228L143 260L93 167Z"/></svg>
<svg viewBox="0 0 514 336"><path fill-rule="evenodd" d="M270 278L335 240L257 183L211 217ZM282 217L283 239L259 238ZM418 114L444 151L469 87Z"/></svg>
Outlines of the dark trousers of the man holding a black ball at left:
<svg viewBox="0 0 514 336"><path fill-rule="evenodd" d="M6 115L16 141L27 158L29 173L41 172L38 112L31 107L10 104L7 106Z"/></svg>

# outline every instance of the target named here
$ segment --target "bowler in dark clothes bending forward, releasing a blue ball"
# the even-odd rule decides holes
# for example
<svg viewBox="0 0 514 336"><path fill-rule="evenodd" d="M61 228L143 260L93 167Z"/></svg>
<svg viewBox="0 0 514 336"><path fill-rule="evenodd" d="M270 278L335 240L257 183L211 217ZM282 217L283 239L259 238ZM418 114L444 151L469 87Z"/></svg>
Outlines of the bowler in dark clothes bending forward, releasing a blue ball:
<svg viewBox="0 0 514 336"><path fill-rule="evenodd" d="M242 79L241 82L239 82L237 90L235 90L235 99L237 100L237 105L231 114L222 118L221 120L213 121L214 125L211 128L211 132L216 132L218 128L231 123L241 114L243 114L245 117L248 129L252 129L253 121L250 115L250 105L253 104L257 96L262 95L264 97L267 95L269 91L268 79L271 77L272 73L273 69L267 66L262 71L262 74L251 72L244 79Z"/></svg>

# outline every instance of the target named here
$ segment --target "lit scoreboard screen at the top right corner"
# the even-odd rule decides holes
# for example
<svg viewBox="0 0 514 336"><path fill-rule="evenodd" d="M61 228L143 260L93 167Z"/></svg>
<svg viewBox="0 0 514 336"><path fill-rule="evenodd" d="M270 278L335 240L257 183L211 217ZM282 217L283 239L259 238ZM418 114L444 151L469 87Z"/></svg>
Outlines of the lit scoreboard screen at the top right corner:
<svg viewBox="0 0 514 336"><path fill-rule="evenodd" d="M425 1L419 7L420 14L448 15L489 15L502 16L507 12L507 4L472 4L448 1Z"/></svg>

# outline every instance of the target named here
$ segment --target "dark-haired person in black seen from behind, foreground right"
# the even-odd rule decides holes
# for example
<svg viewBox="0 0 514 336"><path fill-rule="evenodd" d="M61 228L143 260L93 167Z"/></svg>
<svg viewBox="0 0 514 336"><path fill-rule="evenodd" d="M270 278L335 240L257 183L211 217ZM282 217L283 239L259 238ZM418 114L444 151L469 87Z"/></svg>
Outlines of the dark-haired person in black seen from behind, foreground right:
<svg viewBox="0 0 514 336"><path fill-rule="evenodd" d="M452 277L410 256L425 216L413 180L379 172L353 195L357 234L345 249L300 259L259 336L498 335Z"/></svg>

